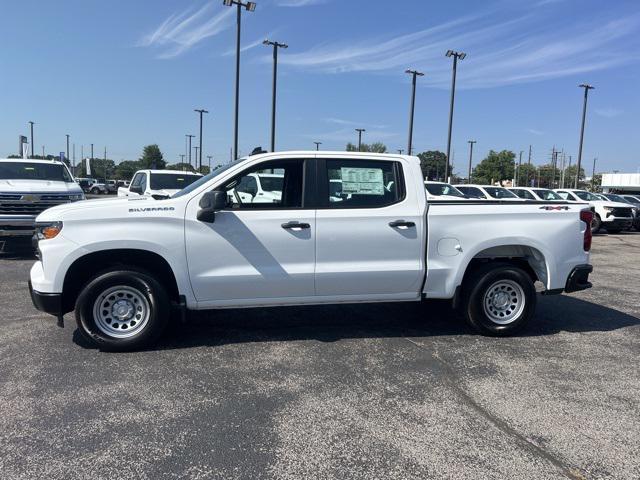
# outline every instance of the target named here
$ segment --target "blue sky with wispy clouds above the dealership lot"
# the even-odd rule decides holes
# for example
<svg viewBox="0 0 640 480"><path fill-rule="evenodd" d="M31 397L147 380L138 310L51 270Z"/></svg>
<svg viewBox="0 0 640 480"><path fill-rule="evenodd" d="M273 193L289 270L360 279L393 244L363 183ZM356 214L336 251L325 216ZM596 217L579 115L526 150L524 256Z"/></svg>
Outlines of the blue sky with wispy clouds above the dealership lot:
<svg viewBox="0 0 640 480"><path fill-rule="evenodd" d="M197 134L226 162L233 141L235 17L222 0L5 0L0 32L0 155L27 122L36 151L116 161L158 143L169 162ZM536 164L555 145L577 157L582 90L591 91L584 160L635 172L640 131L637 0L258 0L243 14L240 150L269 146L271 50L280 53L277 147L344 149L364 140L406 148L410 83L419 79L414 148L446 149L451 60L459 64L454 168L490 149L528 150ZM575 160L574 160L575 161ZM476 163L476 162L474 162Z"/></svg>

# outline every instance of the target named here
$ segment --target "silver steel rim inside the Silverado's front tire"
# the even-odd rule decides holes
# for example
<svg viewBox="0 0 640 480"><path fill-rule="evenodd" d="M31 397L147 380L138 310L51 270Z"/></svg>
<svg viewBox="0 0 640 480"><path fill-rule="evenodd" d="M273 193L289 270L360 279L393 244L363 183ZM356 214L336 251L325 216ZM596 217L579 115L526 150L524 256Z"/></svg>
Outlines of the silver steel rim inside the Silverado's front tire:
<svg viewBox="0 0 640 480"><path fill-rule="evenodd" d="M139 290L117 285L108 288L93 303L96 327L112 338L129 338L144 329L151 307Z"/></svg>

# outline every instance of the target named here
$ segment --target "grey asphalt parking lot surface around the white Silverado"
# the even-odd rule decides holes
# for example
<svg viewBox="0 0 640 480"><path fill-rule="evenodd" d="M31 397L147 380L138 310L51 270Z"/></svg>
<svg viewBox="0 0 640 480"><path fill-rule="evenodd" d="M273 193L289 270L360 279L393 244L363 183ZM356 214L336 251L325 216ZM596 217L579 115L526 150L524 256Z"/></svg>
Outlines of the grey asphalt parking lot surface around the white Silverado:
<svg viewBox="0 0 640 480"><path fill-rule="evenodd" d="M440 303L229 310L110 354L0 258L0 477L640 478L640 234L519 337Z"/></svg>

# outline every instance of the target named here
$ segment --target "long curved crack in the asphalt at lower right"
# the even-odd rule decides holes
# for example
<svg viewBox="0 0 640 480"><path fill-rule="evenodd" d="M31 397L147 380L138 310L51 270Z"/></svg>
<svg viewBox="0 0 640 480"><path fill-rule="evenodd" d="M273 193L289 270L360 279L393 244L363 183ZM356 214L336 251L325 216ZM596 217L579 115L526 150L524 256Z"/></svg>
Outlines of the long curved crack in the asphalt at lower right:
<svg viewBox="0 0 640 480"><path fill-rule="evenodd" d="M415 345L416 347L422 350L426 350L427 352L430 353L433 359L442 368L442 373L444 373L443 378L446 384L458 394L458 396L460 397L460 399L465 405L467 405L469 408L471 408L480 416L482 416L485 420L487 420L489 423L495 426L502 433L513 438L518 443L518 445L520 445L523 449L529 451L530 453L533 453L534 455L537 455L538 457L554 465L566 478L570 478L572 480L584 480L586 478L576 468L572 468L566 465L562 460L556 457L553 453L545 450L540 445L534 443L532 440L528 439L527 437L522 435L520 432L515 430L513 427L511 427L511 425L509 425L505 420L494 415L485 407L483 407L480 403L478 403L466 390L464 390L458 384L458 382L454 380L458 378L458 375L456 374L454 368L440 356L437 349L430 349L425 345L418 343L408 337L404 337L404 339L410 342L411 344Z"/></svg>

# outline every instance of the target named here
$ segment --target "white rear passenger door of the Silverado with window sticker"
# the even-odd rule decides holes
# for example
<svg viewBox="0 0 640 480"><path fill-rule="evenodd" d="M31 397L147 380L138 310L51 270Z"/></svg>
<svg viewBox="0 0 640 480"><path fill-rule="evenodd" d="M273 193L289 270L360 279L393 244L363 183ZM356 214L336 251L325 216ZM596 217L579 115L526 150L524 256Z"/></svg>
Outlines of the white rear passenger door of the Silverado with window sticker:
<svg viewBox="0 0 640 480"><path fill-rule="evenodd" d="M423 280L425 225L402 162L319 158L317 169L316 295L414 298Z"/></svg>

